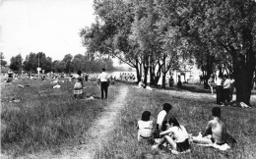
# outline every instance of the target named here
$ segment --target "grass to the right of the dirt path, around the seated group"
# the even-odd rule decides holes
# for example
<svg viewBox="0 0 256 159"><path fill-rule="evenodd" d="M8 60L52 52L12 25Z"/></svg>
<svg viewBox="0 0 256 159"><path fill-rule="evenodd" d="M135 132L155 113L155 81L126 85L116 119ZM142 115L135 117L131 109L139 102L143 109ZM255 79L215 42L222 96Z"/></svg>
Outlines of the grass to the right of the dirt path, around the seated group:
<svg viewBox="0 0 256 159"><path fill-rule="evenodd" d="M237 144L232 145L227 151L192 144L190 153L175 156L169 151L152 151L148 143L138 143L136 125L141 114L149 110L152 113L151 119L156 121L165 102L173 106L170 115L175 116L179 123L194 135L204 131L208 121L212 119L212 108L217 106L215 98L205 97L205 95L201 98L193 98L184 91L158 89L148 91L130 87L126 97L127 104L118 118L117 127L109 134L109 141L96 149L96 158L256 158L255 108L222 107L222 117L226 123L227 132L237 140Z"/></svg>

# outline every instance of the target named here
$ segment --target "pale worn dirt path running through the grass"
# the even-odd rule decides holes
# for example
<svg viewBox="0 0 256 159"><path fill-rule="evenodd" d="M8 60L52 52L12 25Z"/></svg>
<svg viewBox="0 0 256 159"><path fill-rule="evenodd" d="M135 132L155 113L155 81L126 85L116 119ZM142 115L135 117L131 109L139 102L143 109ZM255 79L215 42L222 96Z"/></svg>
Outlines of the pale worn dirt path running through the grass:
<svg viewBox="0 0 256 159"><path fill-rule="evenodd" d="M116 121L118 113L125 105L124 101L127 92L127 86L121 88L116 99L105 108L104 112L99 115L99 118L93 124L94 127L88 131L89 135L86 138L86 144L79 147L74 147L72 152L63 152L62 156L57 156L56 158L95 158L96 149L100 149L101 144L108 141L107 134L109 134L113 130L113 127L115 127L114 122Z"/></svg>

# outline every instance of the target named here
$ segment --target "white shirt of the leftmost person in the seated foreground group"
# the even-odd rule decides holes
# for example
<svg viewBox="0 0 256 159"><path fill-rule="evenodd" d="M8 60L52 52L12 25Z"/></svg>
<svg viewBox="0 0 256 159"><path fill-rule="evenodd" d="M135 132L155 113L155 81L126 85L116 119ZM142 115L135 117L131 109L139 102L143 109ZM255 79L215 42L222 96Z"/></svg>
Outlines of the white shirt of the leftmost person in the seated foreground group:
<svg viewBox="0 0 256 159"><path fill-rule="evenodd" d="M144 137L152 136L153 132L153 121L138 121L139 135Z"/></svg>

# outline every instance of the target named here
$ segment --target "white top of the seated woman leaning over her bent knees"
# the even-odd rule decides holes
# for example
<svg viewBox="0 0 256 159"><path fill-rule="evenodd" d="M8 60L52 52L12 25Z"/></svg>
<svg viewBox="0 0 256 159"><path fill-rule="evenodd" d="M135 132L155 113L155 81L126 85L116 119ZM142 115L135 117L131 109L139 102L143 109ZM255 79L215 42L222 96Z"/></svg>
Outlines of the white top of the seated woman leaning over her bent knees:
<svg viewBox="0 0 256 159"><path fill-rule="evenodd" d="M188 138L188 133L186 129L181 125L180 125L180 128L171 127L165 132L169 132L169 135L173 134L173 138L175 142L183 142L185 139ZM160 132L160 134L161 133L164 133L164 132Z"/></svg>

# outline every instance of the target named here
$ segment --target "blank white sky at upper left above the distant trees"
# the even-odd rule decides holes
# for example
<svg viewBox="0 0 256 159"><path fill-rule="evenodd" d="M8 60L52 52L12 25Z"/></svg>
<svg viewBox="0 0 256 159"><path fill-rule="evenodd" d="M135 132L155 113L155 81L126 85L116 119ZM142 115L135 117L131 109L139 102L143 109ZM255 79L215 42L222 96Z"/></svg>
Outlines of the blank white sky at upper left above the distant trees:
<svg viewBox="0 0 256 159"><path fill-rule="evenodd" d="M0 0L0 51L12 56L44 52L53 60L84 54L79 31L95 22L94 0Z"/></svg>

